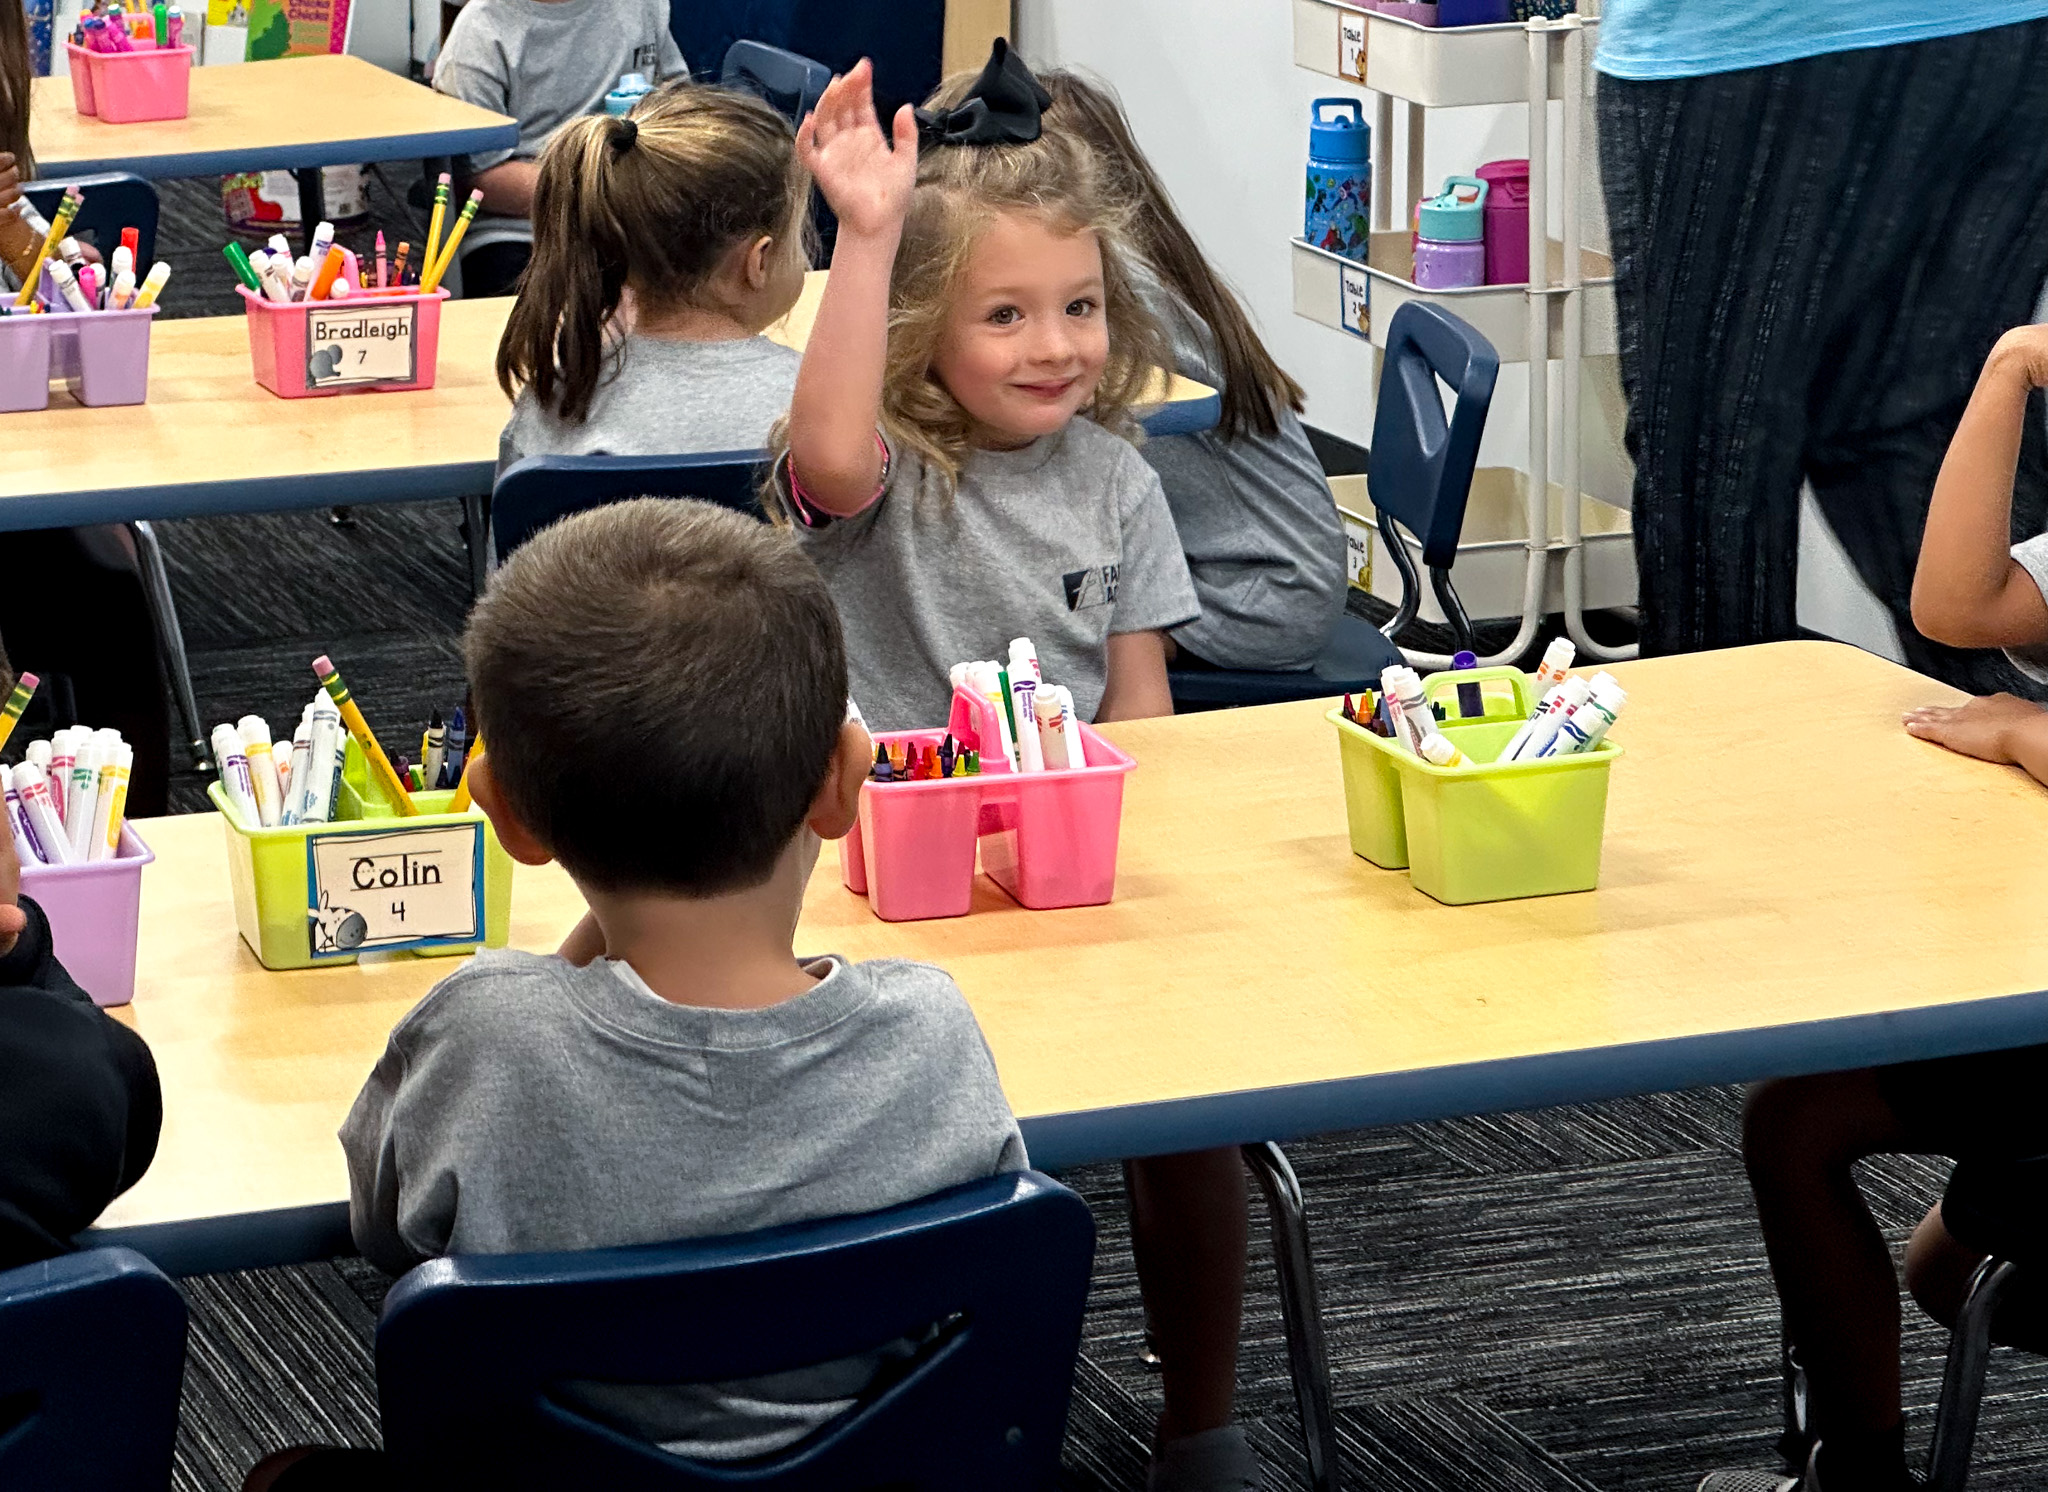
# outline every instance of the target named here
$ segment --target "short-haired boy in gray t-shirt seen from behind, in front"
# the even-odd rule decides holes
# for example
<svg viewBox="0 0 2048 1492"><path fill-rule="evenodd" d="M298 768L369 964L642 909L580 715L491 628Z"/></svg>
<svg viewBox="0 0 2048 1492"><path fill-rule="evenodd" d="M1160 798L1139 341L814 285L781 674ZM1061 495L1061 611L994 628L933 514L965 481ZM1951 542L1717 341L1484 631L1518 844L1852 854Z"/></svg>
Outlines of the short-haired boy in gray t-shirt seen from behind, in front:
<svg viewBox="0 0 2048 1492"><path fill-rule="evenodd" d="M465 657L477 806L520 864L559 860L590 915L555 954L477 954L393 1029L342 1126L371 1263L748 1232L1026 1165L942 970L793 952L872 747L786 532L698 501L580 514L492 577ZM913 1351L571 1392L678 1455L752 1457ZM332 1484L313 1465L252 1486Z"/></svg>

